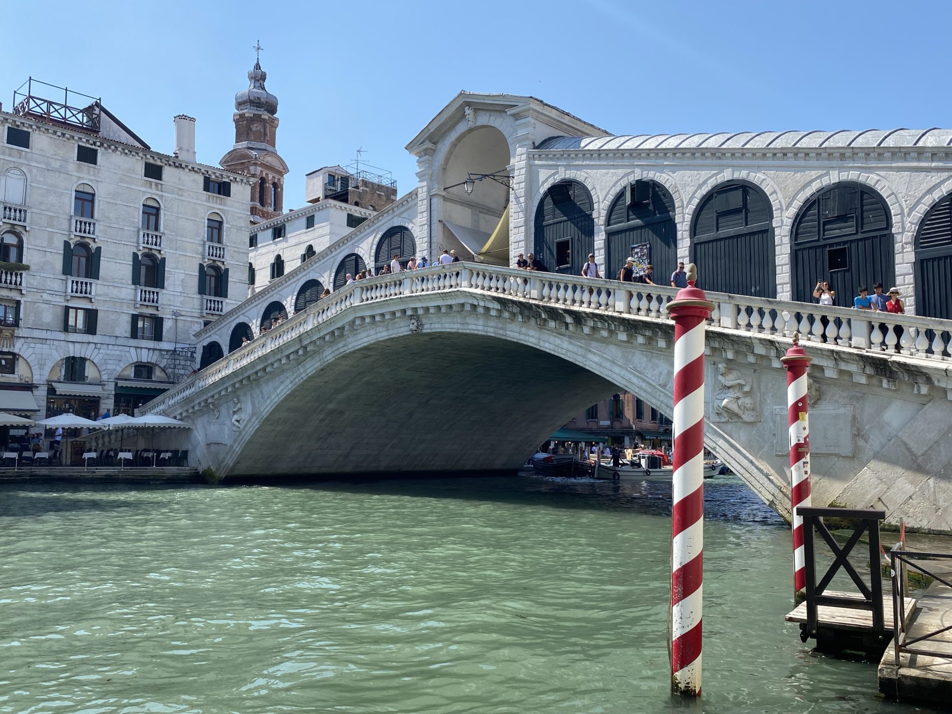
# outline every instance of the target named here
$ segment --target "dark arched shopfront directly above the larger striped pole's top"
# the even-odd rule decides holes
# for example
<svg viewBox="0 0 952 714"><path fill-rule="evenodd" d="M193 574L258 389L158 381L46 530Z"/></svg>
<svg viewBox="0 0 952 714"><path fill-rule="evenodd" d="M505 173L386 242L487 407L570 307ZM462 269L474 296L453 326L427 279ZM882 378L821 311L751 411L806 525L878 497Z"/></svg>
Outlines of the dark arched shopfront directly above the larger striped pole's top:
<svg viewBox="0 0 952 714"><path fill-rule="evenodd" d="M713 188L694 216L690 255L699 288L777 297L773 211L764 191L745 181Z"/></svg>

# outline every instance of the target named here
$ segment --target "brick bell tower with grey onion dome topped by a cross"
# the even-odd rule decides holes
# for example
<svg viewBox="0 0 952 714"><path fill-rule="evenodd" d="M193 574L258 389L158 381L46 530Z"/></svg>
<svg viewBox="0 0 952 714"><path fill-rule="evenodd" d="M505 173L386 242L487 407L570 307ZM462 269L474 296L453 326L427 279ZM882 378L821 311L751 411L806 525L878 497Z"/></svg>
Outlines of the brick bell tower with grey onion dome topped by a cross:
<svg viewBox="0 0 952 714"><path fill-rule="evenodd" d="M265 89L268 72L261 69L261 43L254 49L258 59L248 72L248 89L235 94L235 144L219 162L222 169L256 180L251 187L252 226L281 215L288 173L288 165L275 149L278 98Z"/></svg>

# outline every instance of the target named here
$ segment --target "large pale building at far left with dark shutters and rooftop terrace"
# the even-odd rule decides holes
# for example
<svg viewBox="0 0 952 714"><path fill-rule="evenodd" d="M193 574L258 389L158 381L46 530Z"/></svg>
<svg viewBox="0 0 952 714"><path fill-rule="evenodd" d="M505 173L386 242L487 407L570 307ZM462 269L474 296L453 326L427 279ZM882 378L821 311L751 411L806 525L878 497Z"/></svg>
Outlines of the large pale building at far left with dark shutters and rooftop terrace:
<svg viewBox="0 0 952 714"><path fill-rule="evenodd" d="M246 297L251 179L136 136L35 80L0 111L0 410L130 412L196 364L193 333Z"/></svg>

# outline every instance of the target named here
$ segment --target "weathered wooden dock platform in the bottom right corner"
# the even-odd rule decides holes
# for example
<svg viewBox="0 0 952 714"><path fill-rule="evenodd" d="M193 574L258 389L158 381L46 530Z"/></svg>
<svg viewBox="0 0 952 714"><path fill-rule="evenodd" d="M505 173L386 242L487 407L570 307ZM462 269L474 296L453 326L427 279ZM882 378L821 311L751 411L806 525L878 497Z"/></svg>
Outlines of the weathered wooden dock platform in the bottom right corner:
<svg viewBox="0 0 952 714"><path fill-rule="evenodd" d="M926 639L917 642L918 638ZM906 627L905 644L948 656L903 651L897 666L895 645L890 642L880 662L880 691L900 701L949 704L952 701L952 588L939 582L929 585Z"/></svg>

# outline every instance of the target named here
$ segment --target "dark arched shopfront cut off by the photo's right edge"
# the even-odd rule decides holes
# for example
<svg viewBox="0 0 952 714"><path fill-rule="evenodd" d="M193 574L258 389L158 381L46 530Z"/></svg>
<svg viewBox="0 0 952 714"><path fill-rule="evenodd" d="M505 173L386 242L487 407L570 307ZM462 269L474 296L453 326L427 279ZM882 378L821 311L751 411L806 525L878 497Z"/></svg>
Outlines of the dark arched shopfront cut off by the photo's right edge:
<svg viewBox="0 0 952 714"><path fill-rule="evenodd" d="M916 231L916 314L952 320L952 195Z"/></svg>

